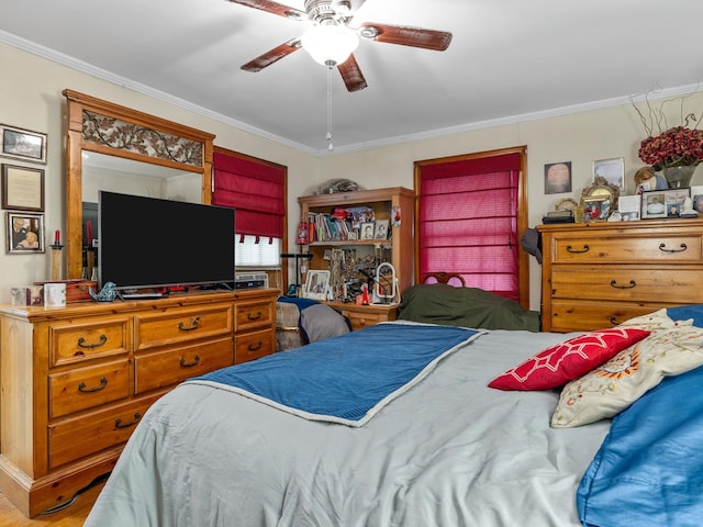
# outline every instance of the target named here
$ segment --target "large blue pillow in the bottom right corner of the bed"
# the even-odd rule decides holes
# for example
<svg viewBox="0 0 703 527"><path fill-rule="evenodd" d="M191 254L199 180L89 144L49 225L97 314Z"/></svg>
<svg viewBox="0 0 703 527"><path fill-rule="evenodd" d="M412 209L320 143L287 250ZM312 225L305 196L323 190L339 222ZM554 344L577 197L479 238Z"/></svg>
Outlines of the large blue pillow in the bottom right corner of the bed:
<svg viewBox="0 0 703 527"><path fill-rule="evenodd" d="M613 419L577 505L589 527L703 525L703 367L665 379Z"/></svg>

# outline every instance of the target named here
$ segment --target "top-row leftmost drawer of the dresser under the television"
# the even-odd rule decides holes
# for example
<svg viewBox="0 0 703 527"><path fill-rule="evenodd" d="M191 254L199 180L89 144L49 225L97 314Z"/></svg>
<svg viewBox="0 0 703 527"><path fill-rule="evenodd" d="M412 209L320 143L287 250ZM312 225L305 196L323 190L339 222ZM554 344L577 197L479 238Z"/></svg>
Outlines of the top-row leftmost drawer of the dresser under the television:
<svg viewBox="0 0 703 527"><path fill-rule="evenodd" d="M127 321L115 318L49 326L49 365L126 354L130 341Z"/></svg>

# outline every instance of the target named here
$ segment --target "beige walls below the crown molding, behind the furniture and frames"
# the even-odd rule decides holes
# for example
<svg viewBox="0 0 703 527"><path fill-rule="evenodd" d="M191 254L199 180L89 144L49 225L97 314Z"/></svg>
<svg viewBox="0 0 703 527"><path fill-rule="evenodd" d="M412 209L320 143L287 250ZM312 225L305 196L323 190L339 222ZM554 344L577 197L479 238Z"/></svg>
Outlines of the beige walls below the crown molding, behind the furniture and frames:
<svg viewBox="0 0 703 527"><path fill-rule="evenodd" d="M46 132L49 136L48 162L45 167L47 233L53 233L55 228L64 229L65 104L62 90L65 88L213 133L219 146L288 166L291 239L294 239L294 229L299 222L297 197L312 186L332 178L348 178L366 188L412 188L415 160L527 145L529 225L534 226L540 223L544 213L551 210L558 199L578 199L581 189L591 182L593 160L623 157L626 193L634 192L633 175L643 165L637 158L637 147L645 137L645 132L639 117L628 103L316 158L221 121L126 90L9 46L0 45L0 64L3 71L12 72L0 83L0 123ZM687 100L687 109L696 112L696 115L700 114L703 109L703 93L691 96ZM670 122L672 125L678 124L676 120ZM571 194L545 195L544 165L569 160L572 162L574 191ZM692 184L703 184L703 169L700 167ZM4 247L4 227L1 236ZM291 246L290 250L294 250L294 246ZM16 256L5 255L2 249L0 302L10 301L11 285L46 280L51 274L49 253L51 250L45 256ZM531 258L533 309L539 307L539 272L536 260Z"/></svg>

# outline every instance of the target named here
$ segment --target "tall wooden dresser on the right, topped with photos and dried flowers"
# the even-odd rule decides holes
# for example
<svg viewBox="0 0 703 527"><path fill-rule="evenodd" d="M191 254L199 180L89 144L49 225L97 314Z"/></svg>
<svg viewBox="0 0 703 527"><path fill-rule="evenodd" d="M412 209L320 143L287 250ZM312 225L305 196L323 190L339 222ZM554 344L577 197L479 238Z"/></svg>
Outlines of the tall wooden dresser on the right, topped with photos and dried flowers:
<svg viewBox="0 0 703 527"><path fill-rule="evenodd" d="M612 327L703 303L703 220L540 225L542 327Z"/></svg>

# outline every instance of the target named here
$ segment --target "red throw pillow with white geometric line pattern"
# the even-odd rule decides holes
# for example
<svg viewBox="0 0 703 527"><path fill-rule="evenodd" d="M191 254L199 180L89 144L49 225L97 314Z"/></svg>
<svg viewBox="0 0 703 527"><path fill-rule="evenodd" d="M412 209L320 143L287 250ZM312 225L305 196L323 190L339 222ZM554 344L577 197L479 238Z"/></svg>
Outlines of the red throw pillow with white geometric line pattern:
<svg viewBox="0 0 703 527"><path fill-rule="evenodd" d="M615 354L649 335L645 329L613 327L555 344L507 370L488 385L498 390L549 390L584 375Z"/></svg>

